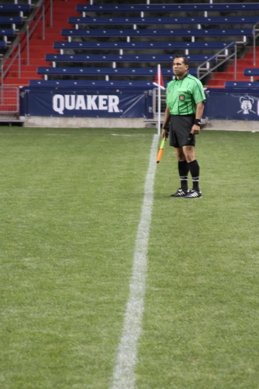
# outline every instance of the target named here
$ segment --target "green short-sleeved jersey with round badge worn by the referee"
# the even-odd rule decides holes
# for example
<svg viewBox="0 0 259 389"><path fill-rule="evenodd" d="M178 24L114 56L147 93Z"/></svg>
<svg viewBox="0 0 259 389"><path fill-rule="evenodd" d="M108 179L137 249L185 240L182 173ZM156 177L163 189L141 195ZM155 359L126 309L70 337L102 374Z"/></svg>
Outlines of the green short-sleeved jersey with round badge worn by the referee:
<svg viewBox="0 0 259 389"><path fill-rule="evenodd" d="M166 94L166 105L170 107L171 115L194 115L196 104L206 100L202 83L188 73L183 78L170 81Z"/></svg>

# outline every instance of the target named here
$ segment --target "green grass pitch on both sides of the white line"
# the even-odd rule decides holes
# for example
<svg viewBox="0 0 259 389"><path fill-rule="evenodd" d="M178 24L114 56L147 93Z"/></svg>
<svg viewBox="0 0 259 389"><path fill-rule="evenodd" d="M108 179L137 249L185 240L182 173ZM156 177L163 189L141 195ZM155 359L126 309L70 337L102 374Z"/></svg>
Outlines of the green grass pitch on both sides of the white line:
<svg viewBox="0 0 259 389"><path fill-rule="evenodd" d="M1 389L111 388L153 134L0 127ZM202 131L187 200L167 145L134 389L258 389L258 150Z"/></svg>

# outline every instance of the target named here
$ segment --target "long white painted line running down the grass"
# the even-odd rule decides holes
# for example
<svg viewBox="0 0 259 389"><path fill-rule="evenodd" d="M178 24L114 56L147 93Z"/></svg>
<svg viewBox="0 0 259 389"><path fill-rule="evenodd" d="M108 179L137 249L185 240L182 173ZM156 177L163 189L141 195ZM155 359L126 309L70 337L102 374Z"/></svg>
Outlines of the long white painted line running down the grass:
<svg viewBox="0 0 259 389"><path fill-rule="evenodd" d="M136 235L132 275L129 285L129 300L124 317L123 333L118 348L112 389L134 388L137 342L141 332L141 320L144 311L148 235L154 197L153 186L156 172L158 141L159 136L154 135L145 180L140 222Z"/></svg>

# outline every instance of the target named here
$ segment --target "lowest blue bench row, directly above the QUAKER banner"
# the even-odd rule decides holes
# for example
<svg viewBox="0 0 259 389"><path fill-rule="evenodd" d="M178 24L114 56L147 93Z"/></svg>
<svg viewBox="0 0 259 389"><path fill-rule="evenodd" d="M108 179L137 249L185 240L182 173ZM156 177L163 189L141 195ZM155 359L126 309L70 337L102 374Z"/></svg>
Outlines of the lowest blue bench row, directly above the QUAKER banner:
<svg viewBox="0 0 259 389"><path fill-rule="evenodd" d="M84 87L134 87L142 89L153 89L155 85L151 81L87 81L87 80L37 80L32 79L30 86L84 86Z"/></svg>

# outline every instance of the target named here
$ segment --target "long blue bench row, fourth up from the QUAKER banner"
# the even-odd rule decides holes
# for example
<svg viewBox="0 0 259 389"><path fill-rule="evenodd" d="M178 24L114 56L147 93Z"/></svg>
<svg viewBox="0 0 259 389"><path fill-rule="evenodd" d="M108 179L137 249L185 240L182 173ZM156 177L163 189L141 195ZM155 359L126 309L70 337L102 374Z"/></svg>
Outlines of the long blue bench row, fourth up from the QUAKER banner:
<svg viewBox="0 0 259 389"><path fill-rule="evenodd" d="M54 42L54 49L72 50L196 50L196 49L224 49L229 42ZM232 44L230 49L234 49Z"/></svg>

